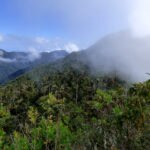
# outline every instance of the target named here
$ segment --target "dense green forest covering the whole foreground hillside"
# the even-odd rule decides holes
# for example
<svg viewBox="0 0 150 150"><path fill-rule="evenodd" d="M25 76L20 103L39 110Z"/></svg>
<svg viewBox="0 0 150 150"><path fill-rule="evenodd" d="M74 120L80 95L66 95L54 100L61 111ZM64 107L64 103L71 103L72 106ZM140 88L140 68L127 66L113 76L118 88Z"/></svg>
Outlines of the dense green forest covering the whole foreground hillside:
<svg viewBox="0 0 150 150"><path fill-rule="evenodd" d="M148 150L150 81L131 85L65 63L0 87L0 149Z"/></svg>

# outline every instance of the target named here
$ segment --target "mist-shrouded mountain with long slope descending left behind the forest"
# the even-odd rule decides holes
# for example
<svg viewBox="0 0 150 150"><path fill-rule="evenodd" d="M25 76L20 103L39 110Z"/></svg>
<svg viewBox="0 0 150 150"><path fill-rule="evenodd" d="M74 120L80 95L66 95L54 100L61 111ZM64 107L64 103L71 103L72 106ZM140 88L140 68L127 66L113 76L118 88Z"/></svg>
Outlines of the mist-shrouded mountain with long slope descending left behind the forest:
<svg viewBox="0 0 150 150"><path fill-rule="evenodd" d="M119 77L121 80L138 82L149 79L150 38L136 38L129 31L113 33L100 39L89 48L73 52L52 64L33 71L33 78L73 68L92 75ZM39 77L38 77L39 76Z"/></svg>

